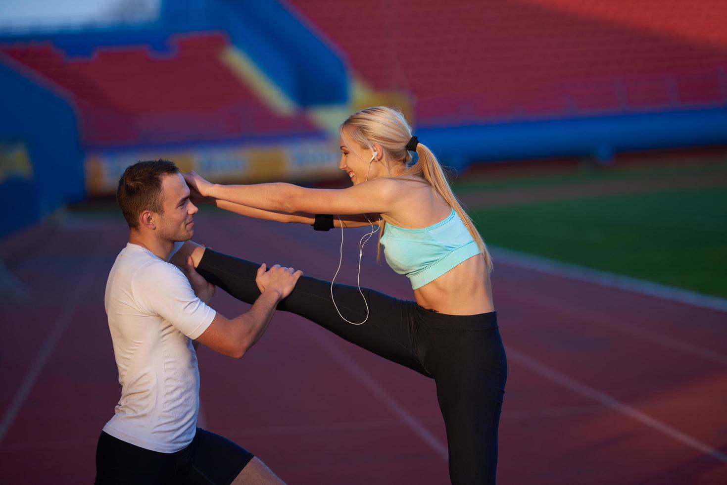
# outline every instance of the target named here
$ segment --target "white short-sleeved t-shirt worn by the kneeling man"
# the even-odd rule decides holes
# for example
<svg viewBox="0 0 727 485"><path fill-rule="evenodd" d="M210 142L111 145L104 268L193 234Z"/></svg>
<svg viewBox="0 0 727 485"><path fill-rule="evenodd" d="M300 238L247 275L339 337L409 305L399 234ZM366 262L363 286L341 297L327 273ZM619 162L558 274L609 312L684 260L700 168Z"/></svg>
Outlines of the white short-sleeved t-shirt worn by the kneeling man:
<svg viewBox="0 0 727 485"><path fill-rule="evenodd" d="M108 275L105 307L121 399L103 430L156 452L185 448L199 411L192 339L212 323L214 310L196 297L179 268L131 243Z"/></svg>

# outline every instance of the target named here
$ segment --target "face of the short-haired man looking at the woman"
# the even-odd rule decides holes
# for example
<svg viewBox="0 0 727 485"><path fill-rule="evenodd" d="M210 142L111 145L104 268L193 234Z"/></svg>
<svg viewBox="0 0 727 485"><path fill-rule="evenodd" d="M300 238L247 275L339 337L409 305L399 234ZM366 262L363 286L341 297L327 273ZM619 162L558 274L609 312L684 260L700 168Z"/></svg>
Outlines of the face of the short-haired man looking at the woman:
<svg viewBox="0 0 727 485"><path fill-rule="evenodd" d="M170 174L161 179L164 193L164 213L156 215L157 234L166 241L188 241L194 234L192 216L198 211L189 200L189 188L182 174Z"/></svg>

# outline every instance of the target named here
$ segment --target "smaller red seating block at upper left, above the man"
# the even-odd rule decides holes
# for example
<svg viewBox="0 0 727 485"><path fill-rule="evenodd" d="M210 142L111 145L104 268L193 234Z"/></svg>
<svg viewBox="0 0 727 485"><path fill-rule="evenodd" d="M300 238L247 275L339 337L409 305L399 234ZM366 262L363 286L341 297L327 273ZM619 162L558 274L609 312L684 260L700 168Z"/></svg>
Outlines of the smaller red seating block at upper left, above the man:
<svg viewBox="0 0 727 485"><path fill-rule="evenodd" d="M221 32L177 34L171 54L99 47L68 58L49 42L0 47L71 93L89 148L318 133L302 114L277 116L222 62Z"/></svg>

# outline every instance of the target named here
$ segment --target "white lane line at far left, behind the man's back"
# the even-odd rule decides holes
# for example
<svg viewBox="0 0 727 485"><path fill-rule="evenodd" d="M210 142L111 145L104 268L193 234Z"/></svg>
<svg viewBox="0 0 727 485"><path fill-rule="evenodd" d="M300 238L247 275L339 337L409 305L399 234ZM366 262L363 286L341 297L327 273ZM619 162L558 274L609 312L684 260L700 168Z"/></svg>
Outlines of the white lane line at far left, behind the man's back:
<svg viewBox="0 0 727 485"><path fill-rule="evenodd" d="M17 393L15 393L15 397L12 398L12 402L3 415L2 420L0 420L0 444L10 429L10 426L12 426L12 422L15 420L17 413L20 412L20 408L23 406L23 403L25 403L25 399L28 398L28 394L31 393L33 385L35 385L36 380L38 380L38 376L47 363L48 358L53 353L55 346L59 342L60 338L63 337L63 332L65 332L68 324L71 323L73 314L76 313L76 309L79 304L84 300L96 270L97 268L95 265L89 265L86 268L86 272L81 275L81 278L76 280L76 288L74 289L73 294L71 294L71 297L69 297L68 300L65 300L65 307L63 308L63 311L53 323L50 332L48 332L43 345L36 355L36 358L33 359L33 363L28 369L28 373L25 374L25 378L20 385L20 389L18 389Z"/></svg>

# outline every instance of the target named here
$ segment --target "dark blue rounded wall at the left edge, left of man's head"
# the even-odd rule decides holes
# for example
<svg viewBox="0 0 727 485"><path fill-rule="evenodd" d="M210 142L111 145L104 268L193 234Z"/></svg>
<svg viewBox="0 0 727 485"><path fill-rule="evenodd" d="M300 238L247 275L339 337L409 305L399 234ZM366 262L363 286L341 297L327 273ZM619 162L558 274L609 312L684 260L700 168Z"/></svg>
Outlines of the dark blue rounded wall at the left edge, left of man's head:
<svg viewBox="0 0 727 485"><path fill-rule="evenodd" d="M0 63L0 236L84 197L84 169L71 104ZM12 167L9 151L27 154ZM11 209L12 208L12 209Z"/></svg>

